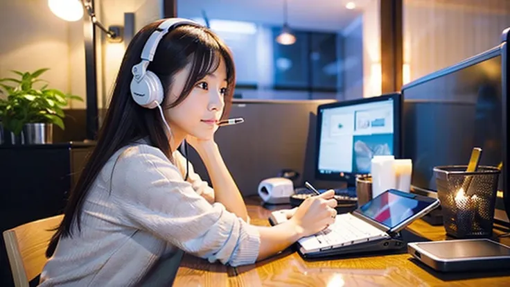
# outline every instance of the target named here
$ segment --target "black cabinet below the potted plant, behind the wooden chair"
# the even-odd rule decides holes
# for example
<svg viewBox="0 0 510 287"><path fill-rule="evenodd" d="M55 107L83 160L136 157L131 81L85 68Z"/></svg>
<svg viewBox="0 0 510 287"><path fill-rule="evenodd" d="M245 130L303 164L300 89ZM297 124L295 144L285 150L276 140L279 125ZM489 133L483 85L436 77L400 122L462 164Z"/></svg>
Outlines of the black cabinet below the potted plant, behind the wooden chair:
<svg viewBox="0 0 510 287"><path fill-rule="evenodd" d="M62 214L93 143L0 146L0 232ZM0 236L0 286L12 286Z"/></svg>

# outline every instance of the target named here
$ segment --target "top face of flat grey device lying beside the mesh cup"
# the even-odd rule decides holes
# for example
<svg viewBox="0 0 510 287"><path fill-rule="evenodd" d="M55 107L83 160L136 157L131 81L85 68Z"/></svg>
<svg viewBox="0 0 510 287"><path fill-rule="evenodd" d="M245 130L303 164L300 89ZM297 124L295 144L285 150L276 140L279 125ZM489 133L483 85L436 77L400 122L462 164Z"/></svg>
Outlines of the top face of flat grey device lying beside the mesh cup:
<svg viewBox="0 0 510 287"><path fill-rule="evenodd" d="M443 259L510 256L510 248L485 239L418 244L424 252Z"/></svg>

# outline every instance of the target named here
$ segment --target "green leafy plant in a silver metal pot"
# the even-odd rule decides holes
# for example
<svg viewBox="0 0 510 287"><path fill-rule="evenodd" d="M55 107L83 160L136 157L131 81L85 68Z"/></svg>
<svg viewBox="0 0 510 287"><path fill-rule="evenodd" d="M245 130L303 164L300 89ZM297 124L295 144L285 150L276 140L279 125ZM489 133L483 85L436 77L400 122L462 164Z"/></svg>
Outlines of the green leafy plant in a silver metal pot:
<svg viewBox="0 0 510 287"><path fill-rule="evenodd" d="M70 100L83 101L79 96L48 89L48 83L39 78L48 70L38 69L33 73L12 71L19 77L0 79L0 92L5 96L0 101L1 121L3 128L12 132L18 142L21 138L21 142L24 140L29 144L51 143L53 125L58 125L62 130L65 128L62 108ZM38 82L45 84L37 88L35 84Z"/></svg>

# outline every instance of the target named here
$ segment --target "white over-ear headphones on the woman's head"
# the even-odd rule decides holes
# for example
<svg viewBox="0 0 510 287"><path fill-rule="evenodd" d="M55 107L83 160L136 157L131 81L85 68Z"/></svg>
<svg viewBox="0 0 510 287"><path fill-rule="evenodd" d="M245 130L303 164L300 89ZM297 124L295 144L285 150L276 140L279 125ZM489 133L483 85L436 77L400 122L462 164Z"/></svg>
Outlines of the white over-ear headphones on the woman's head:
<svg viewBox="0 0 510 287"><path fill-rule="evenodd" d="M131 69L133 79L131 80L131 96L135 102L142 107L153 109L161 105L164 99L164 89L161 81L152 71L147 71L147 67L152 62L156 53L157 45L164 35L171 29L181 25L193 25L201 27L195 21L182 18L170 18L163 21L157 27L156 31L150 35L141 52L141 62L134 65Z"/></svg>

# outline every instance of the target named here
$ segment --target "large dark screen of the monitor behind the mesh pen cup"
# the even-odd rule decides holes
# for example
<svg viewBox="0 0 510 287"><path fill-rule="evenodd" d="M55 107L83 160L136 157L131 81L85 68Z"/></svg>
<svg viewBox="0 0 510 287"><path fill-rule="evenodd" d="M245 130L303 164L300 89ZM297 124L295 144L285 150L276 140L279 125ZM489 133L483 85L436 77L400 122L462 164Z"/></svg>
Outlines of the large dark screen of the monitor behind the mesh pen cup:
<svg viewBox="0 0 510 287"><path fill-rule="evenodd" d="M501 73L498 48L403 87L403 157L412 159L414 190L437 191L434 166L467 165L473 147L482 148L480 165L500 165Z"/></svg>

